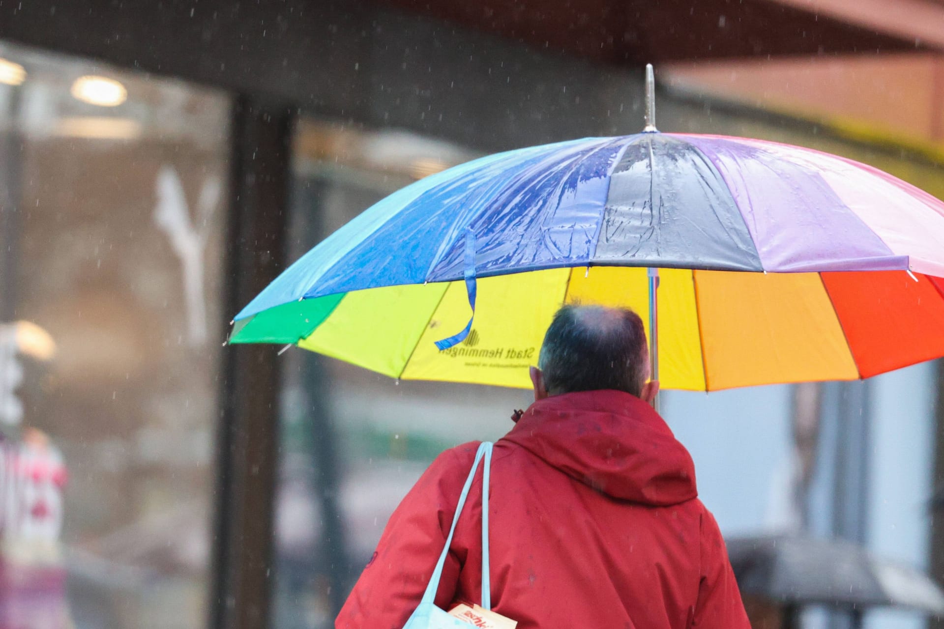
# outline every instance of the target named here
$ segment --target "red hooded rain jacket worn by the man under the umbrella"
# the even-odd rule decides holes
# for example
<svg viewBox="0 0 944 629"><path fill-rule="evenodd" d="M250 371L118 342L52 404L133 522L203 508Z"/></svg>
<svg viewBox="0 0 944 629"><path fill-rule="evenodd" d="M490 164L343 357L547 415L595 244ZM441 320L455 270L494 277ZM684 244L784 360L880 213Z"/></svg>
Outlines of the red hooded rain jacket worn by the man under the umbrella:
<svg viewBox="0 0 944 629"><path fill-rule="evenodd" d="M430 579L477 443L447 450L396 508L335 627L402 629ZM492 608L518 629L750 629L691 456L615 390L534 403L495 444ZM480 602L481 471L436 604Z"/></svg>

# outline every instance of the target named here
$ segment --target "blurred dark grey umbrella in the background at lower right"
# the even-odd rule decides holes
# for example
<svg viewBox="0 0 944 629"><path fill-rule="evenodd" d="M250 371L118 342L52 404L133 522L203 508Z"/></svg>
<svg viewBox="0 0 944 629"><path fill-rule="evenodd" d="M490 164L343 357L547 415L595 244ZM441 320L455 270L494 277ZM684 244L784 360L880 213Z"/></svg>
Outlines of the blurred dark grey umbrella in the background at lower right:
<svg viewBox="0 0 944 629"><path fill-rule="evenodd" d="M848 541L762 536L726 543L744 594L785 604L895 606L944 615L944 592L926 574Z"/></svg>

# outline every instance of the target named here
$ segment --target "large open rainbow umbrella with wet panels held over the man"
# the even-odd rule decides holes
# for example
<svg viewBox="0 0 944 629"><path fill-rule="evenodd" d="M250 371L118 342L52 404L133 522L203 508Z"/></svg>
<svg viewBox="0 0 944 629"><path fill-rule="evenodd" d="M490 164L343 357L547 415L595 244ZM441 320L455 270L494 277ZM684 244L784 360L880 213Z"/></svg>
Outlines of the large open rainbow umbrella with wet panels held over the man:
<svg viewBox="0 0 944 629"><path fill-rule="evenodd" d="M936 198L810 149L659 133L649 99L643 133L398 190L279 275L230 342L525 388L552 314L581 302L639 312L668 389L852 380L944 356L942 278Z"/></svg>

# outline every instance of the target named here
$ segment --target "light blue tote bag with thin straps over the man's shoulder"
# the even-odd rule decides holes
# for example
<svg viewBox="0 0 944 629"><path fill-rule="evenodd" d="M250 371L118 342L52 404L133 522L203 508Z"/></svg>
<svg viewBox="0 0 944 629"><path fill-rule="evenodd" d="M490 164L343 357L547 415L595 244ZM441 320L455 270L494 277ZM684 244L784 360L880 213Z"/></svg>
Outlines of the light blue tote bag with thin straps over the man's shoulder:
<svg viewBox="0 0 944 629"><path fill-rule="evenodd" d="M472 463L472 470L468 478L465 479L463 492L459 496L459 505L456 506L456 515L452 517L452 527L449 529L449 537L446 538L446 546L439 555L439 561L436 562L436 570L432 571L430 584L423 593L419 606L413 611L410 620L403 626L403 629L469 629L469 624L460 621L457 618L449 616L445 611L433 604L436 598L436 592L439 590L439 580L443 576L443 567L446 565L446 557L449 554L449 544L452 543L452 536L456 532L456 524L459 523L459 514L462 513L465 505L465 498L468 497L469 488L472 487L472 479L475 478L475 472L479 469L479 462L484 458L485 467L481 478L481 603L485 609L492 608L492 591L490 589L488 578L488 479L489 469L492 467L492 444L488 441L479 446L479 452L475 455L475 462Z"/></svg>

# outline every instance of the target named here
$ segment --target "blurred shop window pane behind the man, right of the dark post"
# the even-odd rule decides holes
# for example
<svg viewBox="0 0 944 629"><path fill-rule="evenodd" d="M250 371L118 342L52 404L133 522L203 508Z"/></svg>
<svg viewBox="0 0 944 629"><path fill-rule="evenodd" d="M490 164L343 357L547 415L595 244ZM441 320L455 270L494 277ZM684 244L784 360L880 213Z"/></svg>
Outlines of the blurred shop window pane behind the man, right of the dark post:
<svg viewBox="0 0 944 629"><path fill-rule="evenodd" d="M478 157L410 133L308 121L295 141L290 233L301 256L383 196ZM498 439L526 391L402 381L292 348L276 501L273 626L333 626L387 519L433 458Z"/></svg>

